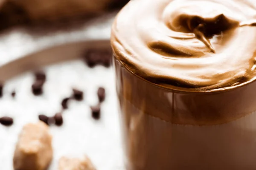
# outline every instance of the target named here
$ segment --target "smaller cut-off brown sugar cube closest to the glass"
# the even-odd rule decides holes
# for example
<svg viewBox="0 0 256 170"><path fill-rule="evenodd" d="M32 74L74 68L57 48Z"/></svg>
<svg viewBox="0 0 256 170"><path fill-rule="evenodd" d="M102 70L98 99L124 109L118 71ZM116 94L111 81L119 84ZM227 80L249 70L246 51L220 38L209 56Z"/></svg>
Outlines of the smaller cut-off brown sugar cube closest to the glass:
<svg viewBox="0 0 256 170"><path fill-rule="evenodd" d="M61 157L58 170L96 170L87 156L83 159Z"/></svg>

